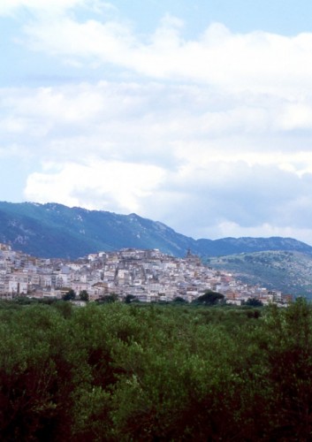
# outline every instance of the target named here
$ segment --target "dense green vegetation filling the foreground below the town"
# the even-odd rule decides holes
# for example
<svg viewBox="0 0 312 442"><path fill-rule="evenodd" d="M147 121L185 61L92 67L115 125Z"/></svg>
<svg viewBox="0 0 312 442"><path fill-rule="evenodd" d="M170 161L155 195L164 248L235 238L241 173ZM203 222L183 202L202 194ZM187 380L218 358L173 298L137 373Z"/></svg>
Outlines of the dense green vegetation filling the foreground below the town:
<svg viewBox="0 0 312 442"><path fill-rule="evenodd" d="M312 309L2 303L0 438L310 440Z"/></svg>

